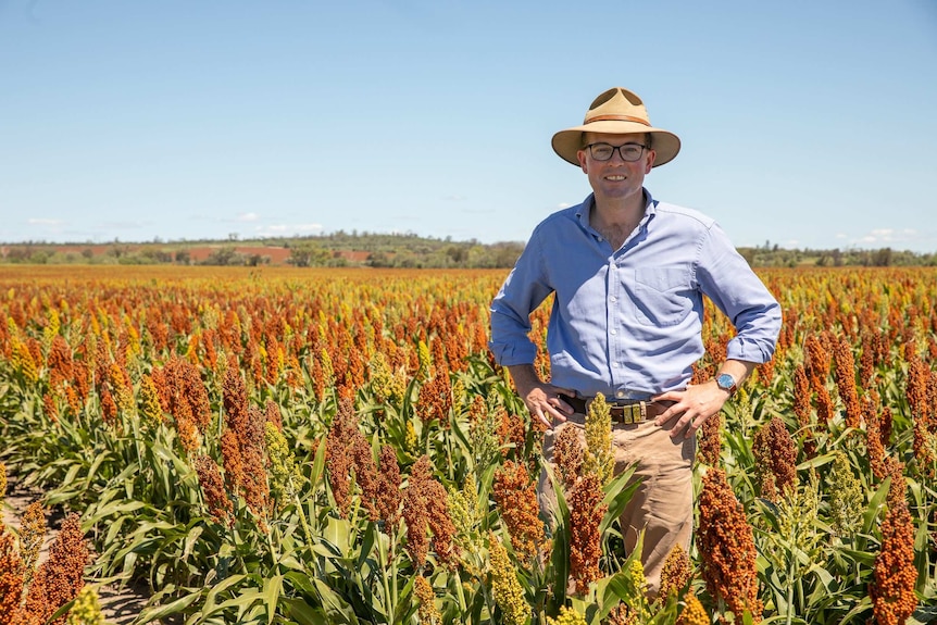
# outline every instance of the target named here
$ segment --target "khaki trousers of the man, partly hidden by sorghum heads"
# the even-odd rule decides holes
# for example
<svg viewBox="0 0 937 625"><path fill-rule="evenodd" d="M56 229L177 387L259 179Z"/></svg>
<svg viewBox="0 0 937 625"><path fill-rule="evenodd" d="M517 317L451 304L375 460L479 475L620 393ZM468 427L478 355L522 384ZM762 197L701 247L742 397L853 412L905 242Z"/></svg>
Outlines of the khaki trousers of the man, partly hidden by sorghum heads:
<svg viewBox="0 0 937 625"><path fill-rule="evenodd" d="M671 426L657 426L653 421L634 425L612 424L615 474L637 463L634 479L642 478L621 516L621 525L628 553L637 546L640 532L645 533L641 564L651 598L660 591L661 571L671 550L679 545L689 553L692 538L696 438L672 439ZM553 442L565 427L577 429L585 449L585 416L574 414L545 434L544 459L551 467ZM555 496L546 471L540 472L538 499L540 510L552 522Z"/></svg>

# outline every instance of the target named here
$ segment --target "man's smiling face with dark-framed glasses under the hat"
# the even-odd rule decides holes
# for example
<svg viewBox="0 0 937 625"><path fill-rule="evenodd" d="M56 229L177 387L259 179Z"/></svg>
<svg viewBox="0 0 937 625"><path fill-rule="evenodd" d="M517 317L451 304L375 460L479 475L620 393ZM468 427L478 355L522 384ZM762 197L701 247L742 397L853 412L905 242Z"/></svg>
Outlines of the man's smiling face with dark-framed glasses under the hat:
<svg viewBox="0 0 937 625"><path fill-rule="evenodd" d="M609 143L610 146L624 146L625 143L647 145L644 134L633 135L605 135L597 133L585 134L585 145ZM622 159L615 150L608 161L597 161L588 149L577 152L579 165L589 177L589 185L597 198L608 200L627 200L634 198L640 201L641 191L647 175L654 164L654 151L645 150L641 157L634 162Z"/></svg>

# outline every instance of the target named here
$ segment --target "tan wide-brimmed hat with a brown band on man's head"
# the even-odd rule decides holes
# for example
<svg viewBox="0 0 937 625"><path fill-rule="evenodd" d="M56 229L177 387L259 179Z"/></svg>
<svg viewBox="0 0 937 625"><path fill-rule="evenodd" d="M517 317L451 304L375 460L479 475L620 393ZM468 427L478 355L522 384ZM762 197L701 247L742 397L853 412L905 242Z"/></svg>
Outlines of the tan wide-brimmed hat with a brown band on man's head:
<svg viewBox="0 0 937 625"><path fill-rule="evenodd" d="M560 130L553 135L553 151L564 161L578 165L576 152L583 149L583 133L613 135L651 133L653 135L651 147L657 152L655 167L672 161L680 151L679 137L651 126L648 110L641 99L621 87L609 89L592 100L582 126Z"/></svg>

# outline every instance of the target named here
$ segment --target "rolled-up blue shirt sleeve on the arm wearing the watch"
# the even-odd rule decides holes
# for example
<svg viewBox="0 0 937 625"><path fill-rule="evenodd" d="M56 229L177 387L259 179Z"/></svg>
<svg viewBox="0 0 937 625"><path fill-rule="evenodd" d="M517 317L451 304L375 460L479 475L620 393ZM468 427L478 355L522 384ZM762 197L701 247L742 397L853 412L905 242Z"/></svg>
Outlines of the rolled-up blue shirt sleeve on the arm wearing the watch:
<svg viewBox="0 0 937 625"><path fill-rule="evenodd" d="M780 333L780 304L715 224L700 246L697 280L736 329L726 358L770 361Z"/></svg>

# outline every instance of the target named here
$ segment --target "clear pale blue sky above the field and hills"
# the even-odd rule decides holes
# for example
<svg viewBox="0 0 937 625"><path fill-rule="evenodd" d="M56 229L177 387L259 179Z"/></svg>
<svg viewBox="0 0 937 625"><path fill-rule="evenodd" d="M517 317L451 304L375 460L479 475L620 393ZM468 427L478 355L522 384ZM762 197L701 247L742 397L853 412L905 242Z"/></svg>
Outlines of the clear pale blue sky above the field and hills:
<svg viewBox="0 0 937 625"><path fill-rule="evenodd" d="M937 251L937 3L0 0L0 241L526 240L598 93L737 246Z"/></svg>

